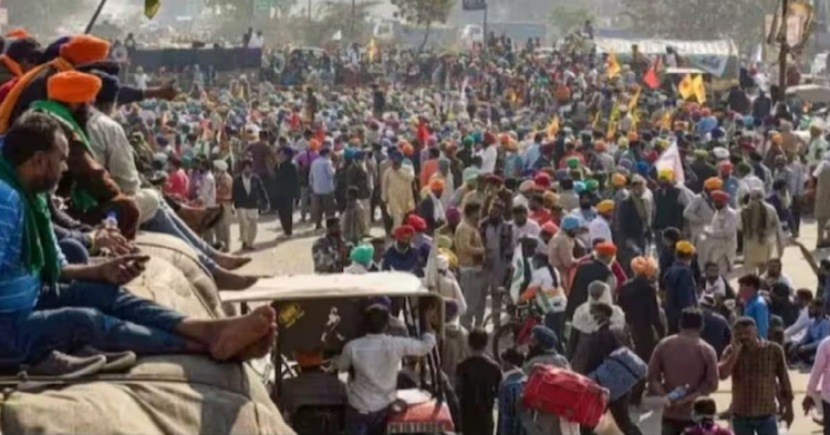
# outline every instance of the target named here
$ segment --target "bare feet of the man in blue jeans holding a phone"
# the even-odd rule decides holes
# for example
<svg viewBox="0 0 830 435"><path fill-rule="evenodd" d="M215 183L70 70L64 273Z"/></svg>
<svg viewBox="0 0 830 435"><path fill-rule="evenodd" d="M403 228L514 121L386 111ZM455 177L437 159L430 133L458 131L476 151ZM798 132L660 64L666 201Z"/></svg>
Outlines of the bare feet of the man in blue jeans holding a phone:
<svg viewBox="0 0 830 435"><path fill-rule="evenodd" d="M273 331L277 314L269 305L259 307L250 314L232 319L210 344L210 355L217 361L227 361L243 349L253 345Z"/></svg>

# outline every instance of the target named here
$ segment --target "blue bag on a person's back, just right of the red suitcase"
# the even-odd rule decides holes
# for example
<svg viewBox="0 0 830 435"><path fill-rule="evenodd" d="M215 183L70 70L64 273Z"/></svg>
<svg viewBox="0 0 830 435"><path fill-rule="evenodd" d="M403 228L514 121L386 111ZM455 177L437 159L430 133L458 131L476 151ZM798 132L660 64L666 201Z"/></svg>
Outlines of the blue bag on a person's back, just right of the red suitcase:
<svg viewBox="0 0 830 435"><path fill-rule="evenodd" d="M611 402L630 392L645 379L649 365L629 348L620 348L605 358L590 377L609 390Z"/></svg>

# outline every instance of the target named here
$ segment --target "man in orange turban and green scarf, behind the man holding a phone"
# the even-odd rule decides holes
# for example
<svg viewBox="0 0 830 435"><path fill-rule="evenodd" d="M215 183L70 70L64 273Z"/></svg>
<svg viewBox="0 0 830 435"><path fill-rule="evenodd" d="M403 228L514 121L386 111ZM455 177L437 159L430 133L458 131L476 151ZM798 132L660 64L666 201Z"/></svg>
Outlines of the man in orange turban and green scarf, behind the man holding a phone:
<svg viewBox="0 0 830 435"><path fill-rule="evenodd" d="M68 71L54 74L46 82L49 101L32 103L32 108L46 112L71 128L65 186L71 190L58 191L68 196L68 213L89 225L98 225L114 214L118 229L132 239L138 229L141 213L136 203L122 194L118 185L94 158L86 136L91 102L101 90L101 79L95 75Z"/></svg>

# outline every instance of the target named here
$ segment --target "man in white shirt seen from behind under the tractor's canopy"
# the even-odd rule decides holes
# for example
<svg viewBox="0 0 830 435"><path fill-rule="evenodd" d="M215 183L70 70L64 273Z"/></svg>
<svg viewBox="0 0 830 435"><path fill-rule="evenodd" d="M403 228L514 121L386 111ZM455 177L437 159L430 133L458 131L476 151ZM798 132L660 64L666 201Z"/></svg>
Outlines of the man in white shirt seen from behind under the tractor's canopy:
<svg viewBox="0 0 830 435"><path fill-rule="evenodd" d="M421 340L388 335L390 311L382 304L366 309L365 323L366 335L346 343L336 366L341 372L354 369L347 387L345 433L380 435L386 433L390 405L396 398L401 361L428 354L436 340L429 322L424 323L427 332Z"/></svg>

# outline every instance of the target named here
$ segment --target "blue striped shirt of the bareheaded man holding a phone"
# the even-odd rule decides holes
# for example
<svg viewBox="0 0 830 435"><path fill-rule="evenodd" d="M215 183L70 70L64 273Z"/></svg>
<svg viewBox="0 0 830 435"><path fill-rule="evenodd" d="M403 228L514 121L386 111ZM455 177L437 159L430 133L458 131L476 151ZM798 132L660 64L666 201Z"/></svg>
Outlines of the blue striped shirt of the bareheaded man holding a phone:
<svg viewBox="0 0 830 435"><path fill-rule="evenodd" d="M0 180L0 313L32 310L43 284L22 262L23 230L23 201ZM60 247L55 249L61 267L65 266Z"/></svg>

